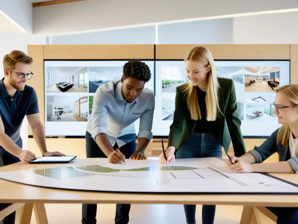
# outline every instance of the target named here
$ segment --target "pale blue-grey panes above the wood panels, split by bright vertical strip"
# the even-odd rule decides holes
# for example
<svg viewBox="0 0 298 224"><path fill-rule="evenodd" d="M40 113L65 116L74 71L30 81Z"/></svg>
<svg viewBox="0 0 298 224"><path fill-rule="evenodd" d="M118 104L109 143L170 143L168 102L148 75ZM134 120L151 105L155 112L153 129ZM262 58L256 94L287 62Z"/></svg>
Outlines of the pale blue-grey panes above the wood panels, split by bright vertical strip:
<svg viewBox="0 0 298 224"><path fill-rule="evenodd" d="M233 19L158 25L158 44L232 44ZM156 27L139 27L74 35L52 36L53 45L156 44Z"/></svg>

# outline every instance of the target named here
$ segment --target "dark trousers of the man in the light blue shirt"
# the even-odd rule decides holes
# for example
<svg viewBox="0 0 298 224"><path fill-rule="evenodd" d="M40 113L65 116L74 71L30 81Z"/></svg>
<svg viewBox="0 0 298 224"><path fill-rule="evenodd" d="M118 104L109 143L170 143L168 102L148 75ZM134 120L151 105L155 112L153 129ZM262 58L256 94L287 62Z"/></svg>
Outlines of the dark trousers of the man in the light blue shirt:
<svg viewBox="0 0 298 224"><path fill-rule="evenodd" d="M118 148L117 143L113 147ZM136 141L131 141L123 145L119 150L124 154L125 159L129 159L136 151ZM86 153L87 158L107 158L103 151L98 147L97 143L91 137L89 132L86 132ZM121 188L121 185L119 185ZM117 204L115 224L127 224L129 221L130 204ZM96 210L97 204L83 204L82 206L82 224L95 224L96 223Z"/></svg>

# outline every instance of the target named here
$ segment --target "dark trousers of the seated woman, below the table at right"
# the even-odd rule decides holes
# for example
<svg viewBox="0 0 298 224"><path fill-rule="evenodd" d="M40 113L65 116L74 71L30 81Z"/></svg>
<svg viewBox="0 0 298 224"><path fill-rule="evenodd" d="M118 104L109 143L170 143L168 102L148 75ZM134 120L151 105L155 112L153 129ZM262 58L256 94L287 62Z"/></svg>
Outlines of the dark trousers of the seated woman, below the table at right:
<svg viewBox="0 0 298 224"><path fill-rule="evenodd" d="M286 207L267 207L273 214L277 216L277 224L297 224L298 208Z"/></svg>

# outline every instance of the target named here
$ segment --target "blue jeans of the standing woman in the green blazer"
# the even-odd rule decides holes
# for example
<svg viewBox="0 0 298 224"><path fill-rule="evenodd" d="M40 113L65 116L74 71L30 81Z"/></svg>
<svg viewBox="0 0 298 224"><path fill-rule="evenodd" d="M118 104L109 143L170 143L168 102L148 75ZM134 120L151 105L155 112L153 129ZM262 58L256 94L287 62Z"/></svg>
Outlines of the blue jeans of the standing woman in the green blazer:
<svg viewBox="0 0 298 224"><path fill-rule="evenodd" d="M177 151L176 159L222 157L219 134L193 133ZM187 224L195 224L196 205L184 205ZM213 224L215 205L203 205L202 223Z"/></svg>

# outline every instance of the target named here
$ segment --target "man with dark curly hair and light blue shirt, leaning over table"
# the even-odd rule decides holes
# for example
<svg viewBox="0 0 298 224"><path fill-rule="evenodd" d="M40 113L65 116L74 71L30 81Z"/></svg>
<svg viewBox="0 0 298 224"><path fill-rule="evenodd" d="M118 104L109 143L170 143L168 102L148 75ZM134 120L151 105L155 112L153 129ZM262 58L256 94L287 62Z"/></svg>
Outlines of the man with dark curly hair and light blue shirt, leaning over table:
<svg viewBox="0 0 298 224"><path fill-rule="evenodd" d="M121 80L97 88L86 130L87 158L147 159L145 148L152 139L154 94L145 83L151 78L148 65L133 59L123 66ZM136 135L134 122L140 119ZM136 137L138 144L136 144ZM128 223L130 204L117 204L115 224ZM83 204L82 224L96 223L96 204Z"/></svg>

